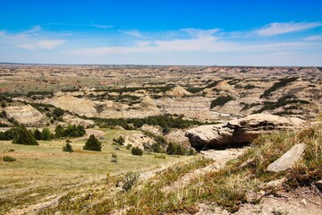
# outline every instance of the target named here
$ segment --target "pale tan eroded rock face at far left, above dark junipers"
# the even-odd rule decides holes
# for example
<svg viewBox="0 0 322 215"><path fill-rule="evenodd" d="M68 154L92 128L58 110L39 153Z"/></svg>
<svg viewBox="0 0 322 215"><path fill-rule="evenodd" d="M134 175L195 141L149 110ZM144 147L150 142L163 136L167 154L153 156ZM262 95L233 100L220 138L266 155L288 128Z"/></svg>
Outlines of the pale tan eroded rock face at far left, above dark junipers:
<svg viewBox="0 0 322 215"><path fill-rule="evenodd" d="M30 105L8 106L4 108L8 118L15 119L22 125L46 125L46 116Z"/></svg>

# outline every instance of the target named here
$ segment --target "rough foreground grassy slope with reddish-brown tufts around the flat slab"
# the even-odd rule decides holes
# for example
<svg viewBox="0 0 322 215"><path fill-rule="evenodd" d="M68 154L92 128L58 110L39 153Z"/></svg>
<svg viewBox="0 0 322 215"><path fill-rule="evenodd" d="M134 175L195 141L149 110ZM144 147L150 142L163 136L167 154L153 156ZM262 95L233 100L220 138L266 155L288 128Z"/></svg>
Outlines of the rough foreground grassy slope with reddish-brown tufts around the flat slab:
<svg viewBox="0 0 322 215"><path fill-rule="evenodd" d="M267 172L268 164L298 142L304 142L308 147L295 167L278 174ZM215 203L231 212L238 211L245 202L258 203L262 196L275 194L275 188L266 186L268 181L285 177L282 189L292 190L311 185L322 177L322 124L308 125L298 133L264 135L253 143L250 150L232 160L225 168L200 176L184 187L175 187L167 192L163 190L165 186L209 163L207 159L196 157L189 162L176 164L157 176L140 181L128 192L115 188L120 178L111 178L106 184L98 183L84 187L82 191L68 193L57 206L43 213L195 213L199 211L201 202Z"/></svg>

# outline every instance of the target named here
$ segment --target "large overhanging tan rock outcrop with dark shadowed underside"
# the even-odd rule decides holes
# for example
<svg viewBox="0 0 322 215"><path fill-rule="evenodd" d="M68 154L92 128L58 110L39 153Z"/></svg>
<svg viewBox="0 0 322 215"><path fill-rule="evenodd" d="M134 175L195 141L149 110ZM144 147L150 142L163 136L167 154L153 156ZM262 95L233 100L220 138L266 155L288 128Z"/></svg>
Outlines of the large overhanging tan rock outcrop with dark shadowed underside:
<svg viewBox="0 0 322 215"><path fill-rule="evenodd" d="M304 123L300 118L265 114L246 116L220 125L201 125L186 133L195 148L216 148L251 142L259 134L293 130Z"/></svg>

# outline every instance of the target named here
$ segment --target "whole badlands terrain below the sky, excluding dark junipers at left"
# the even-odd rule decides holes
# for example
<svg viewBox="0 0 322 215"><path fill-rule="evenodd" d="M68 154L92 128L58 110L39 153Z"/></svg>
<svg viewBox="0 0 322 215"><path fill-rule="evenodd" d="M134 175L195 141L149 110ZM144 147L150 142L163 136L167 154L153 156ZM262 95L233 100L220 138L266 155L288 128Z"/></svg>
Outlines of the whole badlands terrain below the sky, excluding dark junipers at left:
<svg viewBox="0 0 322 215"><path fill-rule="evenodd" d="M87 133L0 141L0 214L322 211L322 68L0 64L0 103L3 133Z"/></svg>

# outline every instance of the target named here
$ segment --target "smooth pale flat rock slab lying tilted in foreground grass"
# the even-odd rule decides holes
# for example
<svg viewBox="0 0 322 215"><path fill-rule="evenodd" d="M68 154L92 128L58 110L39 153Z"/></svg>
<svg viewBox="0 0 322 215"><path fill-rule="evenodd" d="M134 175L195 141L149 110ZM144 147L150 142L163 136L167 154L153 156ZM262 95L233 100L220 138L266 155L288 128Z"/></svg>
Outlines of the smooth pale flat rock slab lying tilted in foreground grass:
<svg viewBox="0 0 322 215"><path fill-rule="evenodd" d="M306 145L304 143L294 145L292 149L285 152L281 158L276 159L273 163L268 165L267 171L281 172L292 168L295 163L301 159L301 155L304 153L305 147Z"/></svg>

